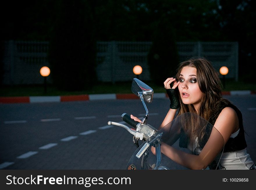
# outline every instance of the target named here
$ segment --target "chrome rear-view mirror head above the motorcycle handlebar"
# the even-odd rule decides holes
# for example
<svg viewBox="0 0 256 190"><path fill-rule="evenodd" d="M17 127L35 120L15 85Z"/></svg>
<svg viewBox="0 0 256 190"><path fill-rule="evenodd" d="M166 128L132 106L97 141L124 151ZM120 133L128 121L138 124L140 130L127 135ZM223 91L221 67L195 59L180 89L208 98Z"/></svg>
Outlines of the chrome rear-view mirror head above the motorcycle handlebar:
<svg viewBox="0 0 256 190"><path fill-rule="evenodd" d="M132 80L131 92L133 92L135 95L139 97L141 94L143 99L148 103L151 103L153 100L153 94L154 94L153 89L147 84L143 83L138 78L134 78Z"/></svg>

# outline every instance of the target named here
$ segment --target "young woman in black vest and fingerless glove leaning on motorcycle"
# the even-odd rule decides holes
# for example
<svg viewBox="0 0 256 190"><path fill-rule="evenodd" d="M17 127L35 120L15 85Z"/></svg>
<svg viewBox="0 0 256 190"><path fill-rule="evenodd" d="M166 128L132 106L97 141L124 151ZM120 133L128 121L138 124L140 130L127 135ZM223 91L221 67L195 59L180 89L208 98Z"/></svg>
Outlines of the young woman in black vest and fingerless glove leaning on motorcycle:
<svg viewBox="0 0 256 190"><path fill-rule="evenodd" d="M167 78L164 87L170 98L170 110L160 128L173 121L177 109L178 116L186 112L198 114L223 136L225 146L218 169L249 169L253 165L246 152L242 114L236 106L222 98L221 82L211 62L205 58L192 58L180 63L176 78ZM131 119L141 122L133 115ZM204 135L203 130L200 133ZM222 148L223 144L214 138L213 132L199 155L161 144L163 154L189 169L206 169ZM155 154L153 147L151 150Z"/></svg>

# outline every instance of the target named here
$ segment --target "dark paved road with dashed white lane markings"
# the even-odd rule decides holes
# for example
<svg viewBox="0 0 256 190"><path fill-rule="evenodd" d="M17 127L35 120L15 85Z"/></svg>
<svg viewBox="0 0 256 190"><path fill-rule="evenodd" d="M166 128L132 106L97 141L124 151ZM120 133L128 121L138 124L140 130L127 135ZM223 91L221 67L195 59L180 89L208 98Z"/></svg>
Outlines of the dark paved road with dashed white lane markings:
<svg viewBox="0 0 256 190"><path fill-rule="evenodd" d="M247 152L256 161L256 95L225 97L243 114ZM147 123L158 128L169 100L147 107ZM1 104L0 113L0 169L125 169L133 136L107 122L145 110L138 99Z"/></svg>

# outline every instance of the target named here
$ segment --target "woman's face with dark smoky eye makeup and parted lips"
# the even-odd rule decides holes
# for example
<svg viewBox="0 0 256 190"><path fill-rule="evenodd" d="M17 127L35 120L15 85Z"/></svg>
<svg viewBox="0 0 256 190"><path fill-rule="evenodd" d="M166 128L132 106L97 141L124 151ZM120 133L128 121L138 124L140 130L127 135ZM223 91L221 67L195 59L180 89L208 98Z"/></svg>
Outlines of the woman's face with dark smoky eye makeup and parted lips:
<svg viewBox="0 0 256 190"><path fill-rule="evenodd" d="M180 72L179 81L178 88L182 102L184 104L193 104L195 110L197 110L200 105L202 92L198 86L196 68L183 67Z"/></svg>

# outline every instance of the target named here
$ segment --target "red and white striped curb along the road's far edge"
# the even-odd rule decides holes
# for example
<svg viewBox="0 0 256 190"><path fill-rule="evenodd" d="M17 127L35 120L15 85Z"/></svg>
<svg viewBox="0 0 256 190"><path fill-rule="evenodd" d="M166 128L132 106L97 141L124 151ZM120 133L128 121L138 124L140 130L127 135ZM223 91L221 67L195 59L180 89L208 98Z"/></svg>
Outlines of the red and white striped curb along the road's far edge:
<svg viewBox="0 0 256 190"><path fill-rule="evenodd" d="M256 94L251 90L235 90L222 92L223 95L250 95ZM166 93L154 93L154 98L167 98ZM42 102L68 102L68 101L89 101L89 100L116 100L116 99L137 99L135 94L83 94L68 96L20 96L0 97L0 103L42 103Z"/></svg>

